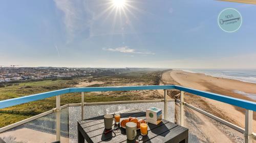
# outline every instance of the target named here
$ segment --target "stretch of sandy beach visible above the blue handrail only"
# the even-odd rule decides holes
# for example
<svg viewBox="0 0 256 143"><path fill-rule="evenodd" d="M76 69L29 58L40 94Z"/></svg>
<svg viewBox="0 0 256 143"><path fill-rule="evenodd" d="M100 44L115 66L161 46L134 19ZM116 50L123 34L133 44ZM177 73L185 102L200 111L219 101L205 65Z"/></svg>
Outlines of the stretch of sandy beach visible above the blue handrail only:
<svg viewBox="0 0 256 143"><path fill-rule="evenodd" d="M209 84L215 85L215 87L219 87L220 89L225 89L228 91L218 91L218 93L222 93L222 95L256 102L255 99L249 97L249 95L256 95L256 83L225 77L217 77L207 75L205 73L187 72L183 70L172 70L170 76L174 81L176 81L176 83L184 87L214 92L216 90L210 88Z"/></svg>

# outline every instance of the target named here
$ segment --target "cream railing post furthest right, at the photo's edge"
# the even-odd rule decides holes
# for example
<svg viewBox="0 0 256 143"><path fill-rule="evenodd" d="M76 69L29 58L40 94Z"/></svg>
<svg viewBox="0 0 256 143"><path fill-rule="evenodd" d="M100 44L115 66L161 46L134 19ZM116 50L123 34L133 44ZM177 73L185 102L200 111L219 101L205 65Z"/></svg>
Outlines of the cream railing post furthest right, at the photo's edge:
<svg viewBox="0 0 256 143"><path fill-rule="evenodd" d="M245 143L252 143L253 134L252 134L252 121L253 121L253 111L245 110Z"/></svg>

